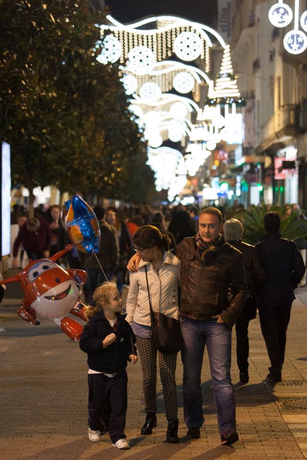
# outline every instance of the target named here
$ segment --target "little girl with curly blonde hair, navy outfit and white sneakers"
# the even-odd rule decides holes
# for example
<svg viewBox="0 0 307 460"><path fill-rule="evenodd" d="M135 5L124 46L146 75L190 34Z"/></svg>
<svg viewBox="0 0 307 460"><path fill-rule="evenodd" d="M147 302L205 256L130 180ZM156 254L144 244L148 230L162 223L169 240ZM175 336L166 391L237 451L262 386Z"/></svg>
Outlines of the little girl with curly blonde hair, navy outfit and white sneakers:
<svg viewBox="0 0 307 460"><path fill-rule="evenodd" d="M121 314L121 298L113 282L105 282L93 294L89 321L80 338L80 349L89 364L89 439L101 440L109 430L113 446L129 449L124 434L127 410L127 361L138 360L136 337ZM102 426L104 421L104 426Z"/></svg>

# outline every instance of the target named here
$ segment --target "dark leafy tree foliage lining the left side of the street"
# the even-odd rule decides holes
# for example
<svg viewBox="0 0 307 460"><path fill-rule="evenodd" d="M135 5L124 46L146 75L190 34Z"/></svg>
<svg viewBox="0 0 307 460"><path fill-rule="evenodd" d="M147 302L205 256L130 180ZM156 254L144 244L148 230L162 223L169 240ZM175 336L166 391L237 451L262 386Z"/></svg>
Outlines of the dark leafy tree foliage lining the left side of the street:
<svg viewBox="0 0 307 460"><path fill-rule="evenodd" d="M129 170L153 185L118 70L96 60L102 21L86 0L0 1L0 135L30 192L137 199Z"/></svg>

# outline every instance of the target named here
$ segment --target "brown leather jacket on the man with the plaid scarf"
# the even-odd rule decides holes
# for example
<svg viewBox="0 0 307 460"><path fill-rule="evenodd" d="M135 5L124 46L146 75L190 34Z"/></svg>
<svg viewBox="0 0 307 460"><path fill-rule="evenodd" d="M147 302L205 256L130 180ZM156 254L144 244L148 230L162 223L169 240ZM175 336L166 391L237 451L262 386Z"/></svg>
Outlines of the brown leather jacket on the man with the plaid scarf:
<svg viewBox="0 0 307 460"><path fill-rule="evenodd" d="M232 327L247 298L241 252L224 240L216 256L205 263L195 237L189 237L176 246L176 255L181 261L180 317L208 321L220 315Z"/></svg>

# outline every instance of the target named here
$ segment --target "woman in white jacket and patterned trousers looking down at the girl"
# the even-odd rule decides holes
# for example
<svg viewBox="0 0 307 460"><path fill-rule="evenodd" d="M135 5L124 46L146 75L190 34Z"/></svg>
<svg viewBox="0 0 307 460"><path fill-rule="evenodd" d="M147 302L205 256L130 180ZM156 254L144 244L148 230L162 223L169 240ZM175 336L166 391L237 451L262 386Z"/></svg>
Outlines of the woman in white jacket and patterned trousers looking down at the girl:
<svg viewBox="0 0 307 460"><path fill-rule="evenodd" d="M168 251L170 239L157 227L144 225L136 231L133 242L140 256L138 271L130 273L126 320L136 337L143 372L146 420L142 434L151 434L157 426L157 349L151 337L150 308L146 283L147 270L151 306L166 316L178 319L178 282L180 261ZM178 443L178 401L176 386L177 354L160 353L160 376L163 386L168 428L166 441Z"/></svg>

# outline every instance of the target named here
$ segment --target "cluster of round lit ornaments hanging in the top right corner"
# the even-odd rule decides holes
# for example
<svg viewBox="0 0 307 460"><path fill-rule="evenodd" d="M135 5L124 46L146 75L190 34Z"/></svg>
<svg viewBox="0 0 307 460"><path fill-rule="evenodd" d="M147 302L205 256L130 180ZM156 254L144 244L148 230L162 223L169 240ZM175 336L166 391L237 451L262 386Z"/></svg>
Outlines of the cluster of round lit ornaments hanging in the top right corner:
<svg viewBox="0 0 307 460"><path fill-rule="evenodd" d="M278 3L270 8L269 20L275 27L289 26L292 18L292 9L283 0L278 0ZM284 48L291 54L300 54L307 48L307 36L299 30L299 22L301 28L307 32L307 10L302 13L299 21L299 0L295 0L294 29L290 30L283 39Z"/></svg>

